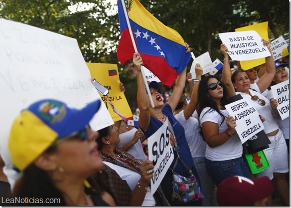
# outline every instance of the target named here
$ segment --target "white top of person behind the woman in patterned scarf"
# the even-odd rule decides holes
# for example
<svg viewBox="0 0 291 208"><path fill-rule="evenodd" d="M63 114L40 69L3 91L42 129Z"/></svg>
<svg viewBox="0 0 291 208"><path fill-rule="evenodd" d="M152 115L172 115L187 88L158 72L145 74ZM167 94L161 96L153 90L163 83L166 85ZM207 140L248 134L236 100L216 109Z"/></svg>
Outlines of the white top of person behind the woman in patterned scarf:
<svg viewBox="0 0 291 208"><path fill-rule="evenodd" d="M120 142L117 144L118 148L124 147L126 144L131 142L134 139L136 131L138 131L138 129L133 128L127 132L120 134ZM137 141L137 143L134 144L127 152L138 160L146 161L146 155L144 153L141 140Z"/></svg>

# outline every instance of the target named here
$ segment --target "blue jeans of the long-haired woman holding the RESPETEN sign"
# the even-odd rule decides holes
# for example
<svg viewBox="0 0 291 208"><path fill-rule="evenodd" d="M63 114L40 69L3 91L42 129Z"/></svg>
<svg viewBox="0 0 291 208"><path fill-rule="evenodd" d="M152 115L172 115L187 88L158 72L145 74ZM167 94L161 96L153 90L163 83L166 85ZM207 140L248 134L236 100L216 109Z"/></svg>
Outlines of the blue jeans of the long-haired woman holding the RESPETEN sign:
<svg viewBox="0 0 291 208"><path fill-rule="evenodd" d="M252 179L250 169L244 157L224 161L211 161L205 158L205 167L216 186L224 179L232 176L243 176Z"/></svg>

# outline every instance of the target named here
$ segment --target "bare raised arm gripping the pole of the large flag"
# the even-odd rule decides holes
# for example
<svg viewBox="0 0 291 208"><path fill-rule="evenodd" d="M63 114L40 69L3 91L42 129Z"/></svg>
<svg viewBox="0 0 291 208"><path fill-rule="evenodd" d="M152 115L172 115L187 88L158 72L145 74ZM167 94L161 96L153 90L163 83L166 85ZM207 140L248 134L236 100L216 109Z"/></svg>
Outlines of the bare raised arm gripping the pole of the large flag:
<svg viewBox="0 0 291 208"><path fill-rule="evenodd" d="M143 59L139 53L134 54L133 63L138 70L138 94L137 101L138 107L140 109L140 118L139 124L140 127L146 131L150 122L150 114L149 114L149 103L148 103L148 95L146 94L146 86L143 79L143 74L141 72L141 66L143 65Z"/></svg>

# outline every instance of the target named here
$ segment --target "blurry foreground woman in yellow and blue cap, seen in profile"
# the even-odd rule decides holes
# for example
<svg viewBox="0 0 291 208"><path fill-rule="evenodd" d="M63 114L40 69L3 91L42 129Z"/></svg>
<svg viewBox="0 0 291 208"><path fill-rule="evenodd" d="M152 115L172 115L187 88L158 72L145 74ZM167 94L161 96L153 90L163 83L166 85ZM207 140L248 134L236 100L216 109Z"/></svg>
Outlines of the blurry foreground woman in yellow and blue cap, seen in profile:
<svg viewBox="0 0 291 208"><path fill-rule="evenodd" d="M100 100L73 109L40 100L14 120L8 148L15 170L23 172L12 190L14 206L115 206L111 195L85 187L103 167L89 121Z"/></svg>

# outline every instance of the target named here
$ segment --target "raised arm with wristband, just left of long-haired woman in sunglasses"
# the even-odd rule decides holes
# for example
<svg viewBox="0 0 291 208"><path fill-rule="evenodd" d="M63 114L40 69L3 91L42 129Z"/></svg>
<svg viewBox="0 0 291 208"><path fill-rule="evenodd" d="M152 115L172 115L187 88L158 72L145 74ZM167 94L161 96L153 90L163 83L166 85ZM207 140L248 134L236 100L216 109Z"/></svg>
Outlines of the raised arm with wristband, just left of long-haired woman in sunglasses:
<svg viewBox="0 0 291 208"><path fill-rule="evenodd" d="M184 109L184 117L186 120L188 120L188 118L190 118L190 116L193 114L193 112L195 111L195 109L198 105L198 101L199 101L198 86L199 86L199 81L201 80L202 72L203 72L203 70L202 70L200 64L196 63L196 65L195 65L195 73L196 73L195 79L196 80L195 80L194 88L191 92L190 102Z"/></svg>

